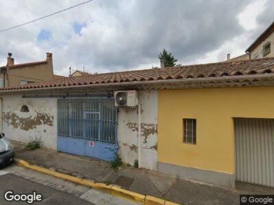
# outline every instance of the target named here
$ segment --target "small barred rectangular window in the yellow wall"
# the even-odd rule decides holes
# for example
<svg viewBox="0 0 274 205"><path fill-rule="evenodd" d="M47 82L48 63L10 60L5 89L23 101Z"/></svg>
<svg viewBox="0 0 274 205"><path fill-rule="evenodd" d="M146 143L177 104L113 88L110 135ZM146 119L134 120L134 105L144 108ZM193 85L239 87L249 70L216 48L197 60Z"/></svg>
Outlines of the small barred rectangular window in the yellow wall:
<svg viewBox="0 0 274 205"><path fill-rule="evenodd" d="M196 119L183 119L184 143L196 144Z"/></svg>

